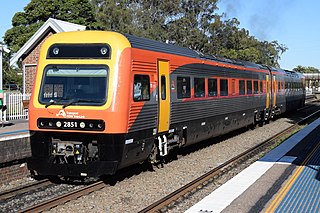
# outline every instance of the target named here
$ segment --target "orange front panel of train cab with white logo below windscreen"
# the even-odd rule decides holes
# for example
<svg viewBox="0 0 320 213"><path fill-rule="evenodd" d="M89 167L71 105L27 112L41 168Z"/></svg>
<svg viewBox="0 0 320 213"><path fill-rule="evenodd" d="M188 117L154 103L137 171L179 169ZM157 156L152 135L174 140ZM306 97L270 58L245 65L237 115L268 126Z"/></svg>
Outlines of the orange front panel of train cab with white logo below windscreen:
<svg viewBox="0 0 320 213"><path fill-rule="evenodd" d="M108 90L112 93L108 94L109 107L106 106L67 106L62 109L62 105L52 105L45 108L38 102L35 96L39 92L39 85L42 79L43 70L38 70L35 86L33 88L32 97L29 106L29 128L30 130L48 131L47 129L39 129L37 126L38 118L69 118L69 119L97 119L104 120L105 130L103 133L126 133L128 131L128 110L129 110L129 85L130 85L130 67L131 67L131 48L124 49L119 54L116 65L109 64L110 74ZM77 63L77 61L73 62ZM96 63L93 61L92 63ZM43 68L43 66L42 66ZM38 85L38 86L37 86ZM50 131L61 131L51 130ZM75 130L63 130L65 132L75 132ZM76 132L81 132L76 130ZM96 133L95 131L86 131L86 133ZM101 133L101 132L99 132Z"/></svg>

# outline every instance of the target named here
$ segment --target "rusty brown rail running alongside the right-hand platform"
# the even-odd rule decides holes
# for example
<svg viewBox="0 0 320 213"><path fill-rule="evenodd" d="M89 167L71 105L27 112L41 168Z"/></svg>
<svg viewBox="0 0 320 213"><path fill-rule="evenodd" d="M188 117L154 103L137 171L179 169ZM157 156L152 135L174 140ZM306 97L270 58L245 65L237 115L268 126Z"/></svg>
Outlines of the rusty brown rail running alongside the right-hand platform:
<svg viewBox="0 0 320 213"><path fill-rule="evenodd" d="M155 203L149 205L148 207L141 210L139 213L145 212L163 212L166 211L170 206L173 206L175 203L181 202L185 197L188 195L195 193L197 190L203 188L207 184L215 181L231 169L237 167L241 163L249 160L255 155L258 155L265 151L266 149L270 149L275 144L279 143L279 140L296 131L299 129L300 125L308 123L310 120L318 118L320 115L320 110L312 113L311 115L301 119L296 124L290 126L289 128L285 129L284 131L274 135L273 137L263 141L262 143L250 148L249 150L241 153L240 155L230 159L229 161L221 164L220 166L212 169L211 171L207 172L206 174L200 176L199 178L191 181L190 183L186 184L185 186L179 188L178 190L172 192L171 194L163 197L162 199L156 201Z"/></svg>

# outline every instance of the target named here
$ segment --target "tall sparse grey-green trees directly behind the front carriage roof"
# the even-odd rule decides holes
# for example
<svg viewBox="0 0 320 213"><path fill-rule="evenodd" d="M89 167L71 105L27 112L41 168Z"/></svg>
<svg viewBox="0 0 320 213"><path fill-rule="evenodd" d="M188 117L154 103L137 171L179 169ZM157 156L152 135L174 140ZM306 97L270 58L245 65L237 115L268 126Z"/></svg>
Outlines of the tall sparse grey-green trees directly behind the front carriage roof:
<svg viewBox="0 0 320 213"><path fill-rule="evenodd" d="M103 29L203 51L217 0L94 0Z"/></svg>

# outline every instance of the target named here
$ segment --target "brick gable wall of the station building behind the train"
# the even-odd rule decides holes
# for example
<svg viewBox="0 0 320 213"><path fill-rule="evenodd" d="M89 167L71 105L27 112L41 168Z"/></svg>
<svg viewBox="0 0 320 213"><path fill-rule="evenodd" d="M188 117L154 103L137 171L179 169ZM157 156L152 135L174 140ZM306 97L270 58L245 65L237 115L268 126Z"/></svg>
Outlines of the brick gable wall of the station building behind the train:
<svg viewBox="0 0 320 213"><path fill-rule="evenodd" d="M35 46L31 50L31 52L22 59L22 65L38 64L40 48L43 42L53 34L54 34L53 32L48 32L47 35L45 35L44 38L37 44L37 46ZM32 87L34 84L34 78L36 75L36 66L27 66L25 72L26 72L26 79L25 79L26 93L31 93Z"/></svg>

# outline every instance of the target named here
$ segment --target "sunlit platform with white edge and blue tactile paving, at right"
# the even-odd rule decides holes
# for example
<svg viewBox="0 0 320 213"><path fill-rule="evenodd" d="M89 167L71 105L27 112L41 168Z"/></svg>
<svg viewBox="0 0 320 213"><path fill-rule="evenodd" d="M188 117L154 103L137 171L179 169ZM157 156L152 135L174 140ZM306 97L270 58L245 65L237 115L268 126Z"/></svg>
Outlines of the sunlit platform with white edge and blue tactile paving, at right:
<svg viewBox="0 0 320 213"><path fill-rule="evenodd" d="M320 212L320 118L186 213Z"/></svg>

